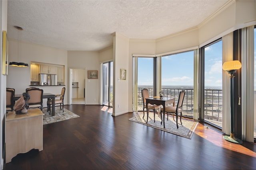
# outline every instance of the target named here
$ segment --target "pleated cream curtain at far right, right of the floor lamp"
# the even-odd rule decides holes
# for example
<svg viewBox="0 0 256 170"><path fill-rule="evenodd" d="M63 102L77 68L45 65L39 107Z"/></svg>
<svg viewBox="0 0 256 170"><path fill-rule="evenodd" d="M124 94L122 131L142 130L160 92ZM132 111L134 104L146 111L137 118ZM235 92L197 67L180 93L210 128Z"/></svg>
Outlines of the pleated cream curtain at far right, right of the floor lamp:
<svg viewBox="0 0 256 170"><path fill-rule="evenodd" d="M242 140L254 142L254 26L242 28Z"/></svg>

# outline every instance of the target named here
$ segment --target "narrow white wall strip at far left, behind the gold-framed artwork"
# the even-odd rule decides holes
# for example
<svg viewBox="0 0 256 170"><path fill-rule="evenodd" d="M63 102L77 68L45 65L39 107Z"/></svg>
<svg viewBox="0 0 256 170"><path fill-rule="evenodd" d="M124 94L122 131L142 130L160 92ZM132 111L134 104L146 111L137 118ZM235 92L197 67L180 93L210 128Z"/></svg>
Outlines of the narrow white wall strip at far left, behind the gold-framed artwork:
<svg viewBox="0 0 256 170"><path fill-rule="evenodd" d="M8 1L2 1L0 0L0 29L1 29L1 33L0 33L0 169L3 169L3 165L4 165L4 159L3 159L3 147L2 147L2 131L3 128L5 129L5 122L3 120L5 117L5 112L6 112L6 75L2 74L2 41L3 41L3 37L2 37L2 32L7 31L7 5L8 5ZM7 32L8 33L8 32ZM4 141L5 142L5 141Z"/></svg>

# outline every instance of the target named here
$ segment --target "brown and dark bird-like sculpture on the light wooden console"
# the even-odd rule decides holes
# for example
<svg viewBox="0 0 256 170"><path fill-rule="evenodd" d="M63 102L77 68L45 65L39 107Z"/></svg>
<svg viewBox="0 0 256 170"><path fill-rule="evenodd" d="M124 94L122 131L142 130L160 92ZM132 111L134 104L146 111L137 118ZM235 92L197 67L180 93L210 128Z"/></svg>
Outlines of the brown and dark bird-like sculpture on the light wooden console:
<svg viewBox="0 0 256 170"><path fill-rule="evenodd" d="M16 114L28 113L28 100L30 96L28 93L22 93L22 96L15 102L14 111Z"/></svg>

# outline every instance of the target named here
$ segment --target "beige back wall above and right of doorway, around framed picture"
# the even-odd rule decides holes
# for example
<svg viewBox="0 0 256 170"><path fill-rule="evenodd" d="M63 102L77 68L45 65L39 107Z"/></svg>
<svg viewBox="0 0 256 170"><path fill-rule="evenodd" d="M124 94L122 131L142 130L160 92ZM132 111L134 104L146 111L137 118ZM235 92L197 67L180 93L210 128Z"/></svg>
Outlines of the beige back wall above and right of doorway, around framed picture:
<svg viewBox="0 0 256 170"><path fill-rule="evenodd" d="M99 53L97 51L68 51L68 68L86 68L99 70ZM99 76L98 79L87 79L86 74L86 104L99 104Z"/></svg>

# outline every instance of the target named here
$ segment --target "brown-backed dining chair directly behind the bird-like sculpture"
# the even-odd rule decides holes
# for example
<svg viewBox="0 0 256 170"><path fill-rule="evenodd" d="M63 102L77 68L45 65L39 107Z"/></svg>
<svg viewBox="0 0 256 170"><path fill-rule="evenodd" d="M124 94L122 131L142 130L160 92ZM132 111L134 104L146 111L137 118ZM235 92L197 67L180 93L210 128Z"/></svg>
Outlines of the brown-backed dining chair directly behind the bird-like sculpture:
<svg viewBox="0 0 256 170"><path fill-rule="evenodd" d="M44 90L39 88L27 88L26 93L30 96L30 99L28 100L29 109L40 108L42 110Z"/></svg>

